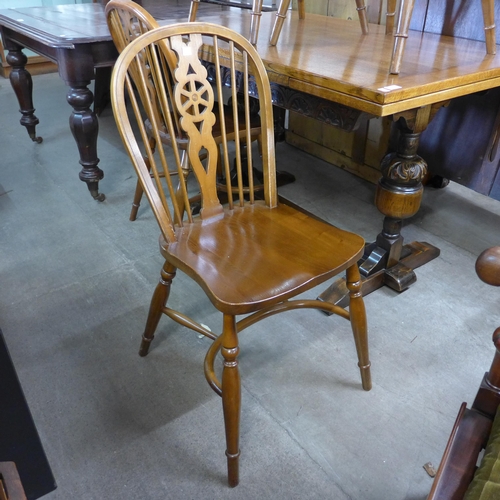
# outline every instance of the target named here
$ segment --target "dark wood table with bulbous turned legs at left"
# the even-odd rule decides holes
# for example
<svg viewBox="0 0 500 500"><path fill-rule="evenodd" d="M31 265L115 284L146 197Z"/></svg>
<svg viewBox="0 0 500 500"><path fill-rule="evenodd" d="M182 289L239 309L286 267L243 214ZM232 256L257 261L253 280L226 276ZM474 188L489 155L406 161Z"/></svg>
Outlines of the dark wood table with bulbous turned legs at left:
<svg viewBox="0 0 500 500"><path fill-rule="evenodd" d="M141 2L139 2L141 3ZM165 2L142 2L161 19ZM161 5L163 3L163 6ZM170 2L169 16L172 21L187 20L189 2L175 7ZM211 9L221 7L211 6ZM238 9L239 10L239 9ZM203 7L200 8L200 15ZM104 173L98 167L97 136L98 119L92 110L94 96L89 85L101 68L113 66L118 53L109 33L104 8L101 4L58 5L54 7L29 7L0 11L0 31L8 50L7 62L12 66L10 82L19 101L21 125L35 142L42 142L36 135L39 123L34 114L32 79L25 66L23 53L28 48L58 65L59 75L68 85L67 101L73 108L70 127L80 154L80 179L87 183L93 198L102 201L99 181Z"/></svg>

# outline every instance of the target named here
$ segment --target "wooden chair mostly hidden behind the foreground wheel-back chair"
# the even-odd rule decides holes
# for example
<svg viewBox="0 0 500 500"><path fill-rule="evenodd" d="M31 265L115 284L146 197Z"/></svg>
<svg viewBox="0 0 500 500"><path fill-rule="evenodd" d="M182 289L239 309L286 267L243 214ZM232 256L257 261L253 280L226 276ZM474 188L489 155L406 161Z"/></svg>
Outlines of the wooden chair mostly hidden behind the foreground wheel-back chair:
<svg viewBox="0 0 500 500"><path fill-rule="evenodd" d="M105 9L106 20L108 23L109 30L111 32L111 36L115 43L115 46L118 52L122 52L125 47L137 37L150 31L152 29L157 28L159 25L156 20L140 5L133 2L132 0L110 0ZM168 51L168 47L164 47L164 51L166 54L166 63L169 64L172 68L175 67L175 56L172 51ZM133 74L133 78L139 78L138 74ZM155 95L154 87L150 87L148 91L149 99L155 105L158 105L158 99ZM223 109L226 109L223 107ZM229 117L232 115L230 114ZM188 155L185 154L188 141L185 132L179 125L179 117L174 115L174 123L175 123L175 134L171 136L166 132L166 127L164 126L162 134L160 134L160 139L163 144L172 145L172 137L175 138L177 145L183 151L182 162L183 162L183 176L187 177L190 174L190 164L188 161ZM149 126L149 125L148 125ZM235 123L231 119L226 120L226 126L228 127L226 130L226 134L228 140L232 140L234 138L235 131ZM250 139L251 141L260 141L260 128L259 121L257 117L252 115L251 120L251 129L250 129ZM216 142L220 143L221 140L221 131L217 129L217 124L214 129L214 135L216 138ZM150 135L149 141L151 143L151 148L154 151L156 140ZM219 168L220 173L220 168ZM220 185L220 189L224 190L225 185ZM141 199L143 195L143 189L140 182L137 182L134 200L132 202L132 210L130 211L130 220L134 221L137 218L137 212L139 210ZM190 206L193 203L198 201L197 196L191 197L189 199ZM185 207L188 208L187 206Z"/></svg>

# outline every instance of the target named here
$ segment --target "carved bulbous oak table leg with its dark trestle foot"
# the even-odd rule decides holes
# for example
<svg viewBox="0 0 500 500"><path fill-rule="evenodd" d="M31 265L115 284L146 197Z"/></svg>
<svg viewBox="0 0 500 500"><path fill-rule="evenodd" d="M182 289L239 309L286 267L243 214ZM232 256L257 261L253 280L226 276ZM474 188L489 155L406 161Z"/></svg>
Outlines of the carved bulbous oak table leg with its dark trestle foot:
<svg viewBox="0 0 500 500"><path fill-rule="evenodd" d="M414 269L435 259L439 248L425 242L404 245L403 220L415 215L422 199L422 179L427 164L417 155L420 134L444 103L425 106L395 115L399 129L396 151L382 160L382 178L377 186L375 205L385 215L383 228L375 242L367 244L359 264L363 295L383 285L402 292L417 279ZM320 300L340 306L348 304L345 278L336 280Z"/></svg>

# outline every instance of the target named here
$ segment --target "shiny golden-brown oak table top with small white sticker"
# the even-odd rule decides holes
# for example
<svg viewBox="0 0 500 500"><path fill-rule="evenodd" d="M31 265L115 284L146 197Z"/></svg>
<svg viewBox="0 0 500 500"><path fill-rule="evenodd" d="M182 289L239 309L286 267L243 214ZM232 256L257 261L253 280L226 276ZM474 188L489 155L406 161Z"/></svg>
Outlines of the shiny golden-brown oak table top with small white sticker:
<svg viewBox="0 0 500 500"><path fill-rule="evenodd" d="M493 88L500 82L500 57L485 55L481 42L412 33L407 67L391 76L386 68L392 43L383 26L370 25L368 38L356 23L315 14L299 21L292 12L278 44L270 47L267 37L273 16L262 14L257 43L272 82L376 116ZM249 32L245 16L221 15L218 20Z"/></svg>

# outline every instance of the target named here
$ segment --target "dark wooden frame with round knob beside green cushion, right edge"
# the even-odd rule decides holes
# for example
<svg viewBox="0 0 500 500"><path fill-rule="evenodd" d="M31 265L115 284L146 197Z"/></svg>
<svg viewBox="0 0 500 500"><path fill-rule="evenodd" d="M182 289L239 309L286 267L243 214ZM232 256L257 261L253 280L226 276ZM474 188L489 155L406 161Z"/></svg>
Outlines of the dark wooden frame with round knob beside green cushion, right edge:
<svg viewBox="0 0 500 500"><path fill-rule="evenodd" d="M479 278L500 286L500 247L485 250L476 261ZM493 333L495 355L472 407L462 403L427 500L462 500L481 450L486 447L500 404L500 328Z"/></svg>

